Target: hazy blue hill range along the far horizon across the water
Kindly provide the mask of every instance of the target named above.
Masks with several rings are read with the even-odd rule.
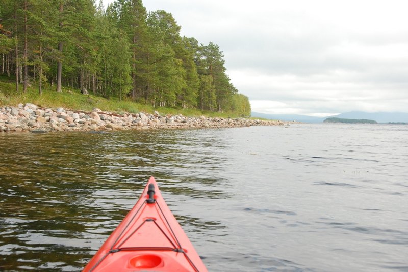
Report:
[[[275,119],[283,121],[297,121],[302,123],[322,123],[326,118],[336,117],[342,119],[368,119],[375,120],[377,123],[408,123],[408,113],[405,112],[363,112],[350,111],[334,116],[314,117],[309,115],[298,114],[266,114],[260,112],[252,112],[252,117],[260,117],[266,119]]]

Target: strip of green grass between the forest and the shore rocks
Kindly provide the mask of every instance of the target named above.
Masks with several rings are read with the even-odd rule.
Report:
[[[234,113],[219,113],[219,112],[202,112],[197,109],[175,109],[175,108],[154,108],[150,105],[135,103],[128,99],[119,100],[116,98],[105,99],[92,94],[83,95],[79,89],[62,88],[62,93],[56,92],[56,87],[45,86],[40,95],[38,85],[28,87],[27,92],[22,92],[22,84],[19,85],[19,92],[16,92],[15,77],[7,77],[0,75],[0,106],[17,106],[22,103],[33,103],[40,107],[47,108],[67,108],[73,110],[92,111],[93,108],[99,108],[103,111],[116,113],[152,113],[158,111],[162,115],[183,114],[184,116],[198,117],[206,115],[210,117],[238,117]]]

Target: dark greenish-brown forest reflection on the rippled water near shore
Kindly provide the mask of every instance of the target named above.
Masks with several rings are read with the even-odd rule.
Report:
[[[1,134],[0,268],[81,269],[150,175],[186,231],[225,228],[193,212],[176,213],[180,205],[195,206],[195,199],[227,197],[216,187],[222,180],[207,173],[218,168],[212,162],[222,162],[212,148],[223,139],[197,133]]]

